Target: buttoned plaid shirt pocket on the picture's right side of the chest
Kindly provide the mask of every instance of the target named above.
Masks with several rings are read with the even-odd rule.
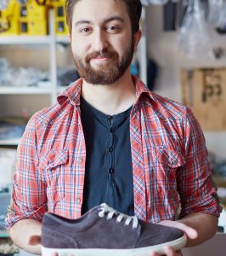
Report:
[[[177,174],[180,167],[184,166],[185,159],[180,148],[158,147],[153,150],[152,178],[157,193],[164,197],[164,200],[178,198]]]

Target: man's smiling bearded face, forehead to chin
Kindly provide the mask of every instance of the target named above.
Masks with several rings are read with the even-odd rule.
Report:
[[[121,0],[81,0],[71,27],[71,50],[80,76],[90,84],[113,84],[127,71],[137,46]]]

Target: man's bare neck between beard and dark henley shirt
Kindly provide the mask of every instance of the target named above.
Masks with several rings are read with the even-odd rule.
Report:
[[[136,101],[136,88],[130,73],[125,73],[115,84],[93,85],[82,83],[82,97],[105,114],[126,111]]]

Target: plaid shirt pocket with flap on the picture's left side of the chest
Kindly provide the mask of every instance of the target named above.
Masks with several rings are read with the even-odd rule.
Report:
[[[65,165],[69,159],[67,150],[51,150],[39,162],[42,177],[47,184],[48,207],[65,197]]]

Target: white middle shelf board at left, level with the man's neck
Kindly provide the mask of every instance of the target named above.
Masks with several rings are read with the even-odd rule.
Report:
[[[7,87],[0,86],[0,95],[52,94],[52,87]]]

